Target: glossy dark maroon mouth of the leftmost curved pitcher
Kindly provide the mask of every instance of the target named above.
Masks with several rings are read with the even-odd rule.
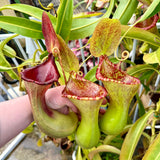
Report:
[[[39,85],[52,84],[57,82],[60,75],[55,64],[53,55],[50,53],[48,59],[31,68],[24,69],[21,72],[21,78],[27,82],[33,82]]]

